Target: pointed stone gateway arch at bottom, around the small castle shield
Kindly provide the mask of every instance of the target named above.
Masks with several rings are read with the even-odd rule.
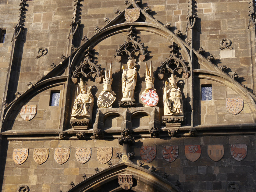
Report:
[[[151,192],[183,192],[180,188],[169,183],[161,176],[152,173],[148,169],[139,167],[132,163],[120,163],[108,169],[94,174],[86,180],[78,183],[67,192],[116,192],[122,191],[118,184],[119,174],[133,175],[132,191],[144,192],[145,189]],[[104,186],[104,188],[102,188]]]

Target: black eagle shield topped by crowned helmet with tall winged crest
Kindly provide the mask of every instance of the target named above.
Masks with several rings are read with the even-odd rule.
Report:
[[[109,72],[106,62],[105,78],[103,79],[104,85],[97,101],[97,105],[99,108],[110,107],[116,100],[116,97],[114,96],[115,93],[114,91],[112,91],[111,88],[112,81],[112,62],[110,63]]]

